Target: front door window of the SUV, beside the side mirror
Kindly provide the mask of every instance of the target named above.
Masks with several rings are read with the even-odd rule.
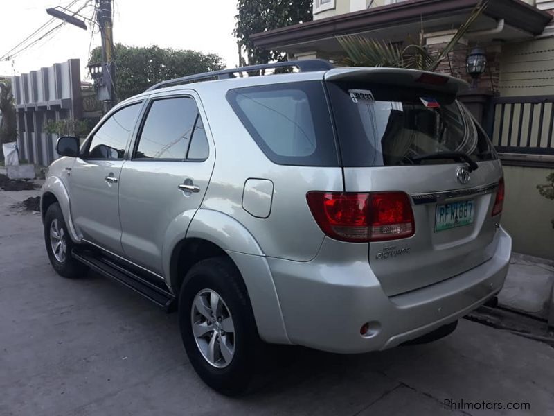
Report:
[[[89,145],[89,159],[123,159],[127,140],[139,117],[141,103],[123,107],[111,114],[96,130]]]

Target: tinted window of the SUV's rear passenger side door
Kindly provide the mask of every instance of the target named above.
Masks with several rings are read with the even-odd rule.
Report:
[[[184,160],[197,114],[193,98],[154,101],[141,132],[136,159]]]

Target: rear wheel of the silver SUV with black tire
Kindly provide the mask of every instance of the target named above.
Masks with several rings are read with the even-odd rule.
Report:
[[[217,303],[220,306],[217,306],[219,311],[215,313],[215,322],[217,315],[222,318],[219,326],[208,320],[213,310],[213,293],[222,301]],[[200,308],[199,304],[202,304]],[[204,314],[200,313],[206,305],[208,308],[203,310]],[[232,327],[228,318],[231,318]],[[204,324],[205,327],[202,327]],[[190,363],[207,385],[228,396],[240,395],[247,390],[262,341],[244,281],[231,259],[205,259],[189,270],[179,296],[179,327]],[[225,332],[225,329],[228,331]],[[233,329],[232,334],[230,329]],[[204,331],[204,336],[197,338]],[[212,354],[210,345],[214,347]],[[233,352],[229,359],[231,349]]]

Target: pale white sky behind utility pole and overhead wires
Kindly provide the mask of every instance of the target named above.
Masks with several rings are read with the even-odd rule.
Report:
[[[51,19],[46,14],[46,8],[67,6],[71,1],[3,1],[0,57]],[[89,6],[80,14],[90,18],[95,1],[88,0],[88,3]],[[77,0],[71,10],[75,11],[85,4],[87,0]],[[114,0],[114,42],[217,53],[226,67],[235,67],[238,64],[237,46],[232,32],[236,14],[235,0]],[[55,19],[41,33],[59,23],[61,21]],[[65,24],[60,30],[15,55],[13,61],[0,60],[0,75],[19,75],[70,58],[79,58],[81,79],[86,79],[89,48],[100,46],[100,34],[92,36],[90,22],[87,26],[87,31],[84,31]]]

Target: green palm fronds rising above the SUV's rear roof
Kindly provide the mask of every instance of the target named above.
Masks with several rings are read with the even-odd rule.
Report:
[[[443,46],[443,49],[434,53],[429,52],[425,46],[423,28],[419,33],[418,42],[412,42],[403,47],[385,40],[368,39],[361,35],[338,36],[337,40],[346,53],[342,63],[349,67],[395,67],[436,71],[440,62],[443,62],[452,52],[487,6],[488,0],[479,2],[452,39]]]

